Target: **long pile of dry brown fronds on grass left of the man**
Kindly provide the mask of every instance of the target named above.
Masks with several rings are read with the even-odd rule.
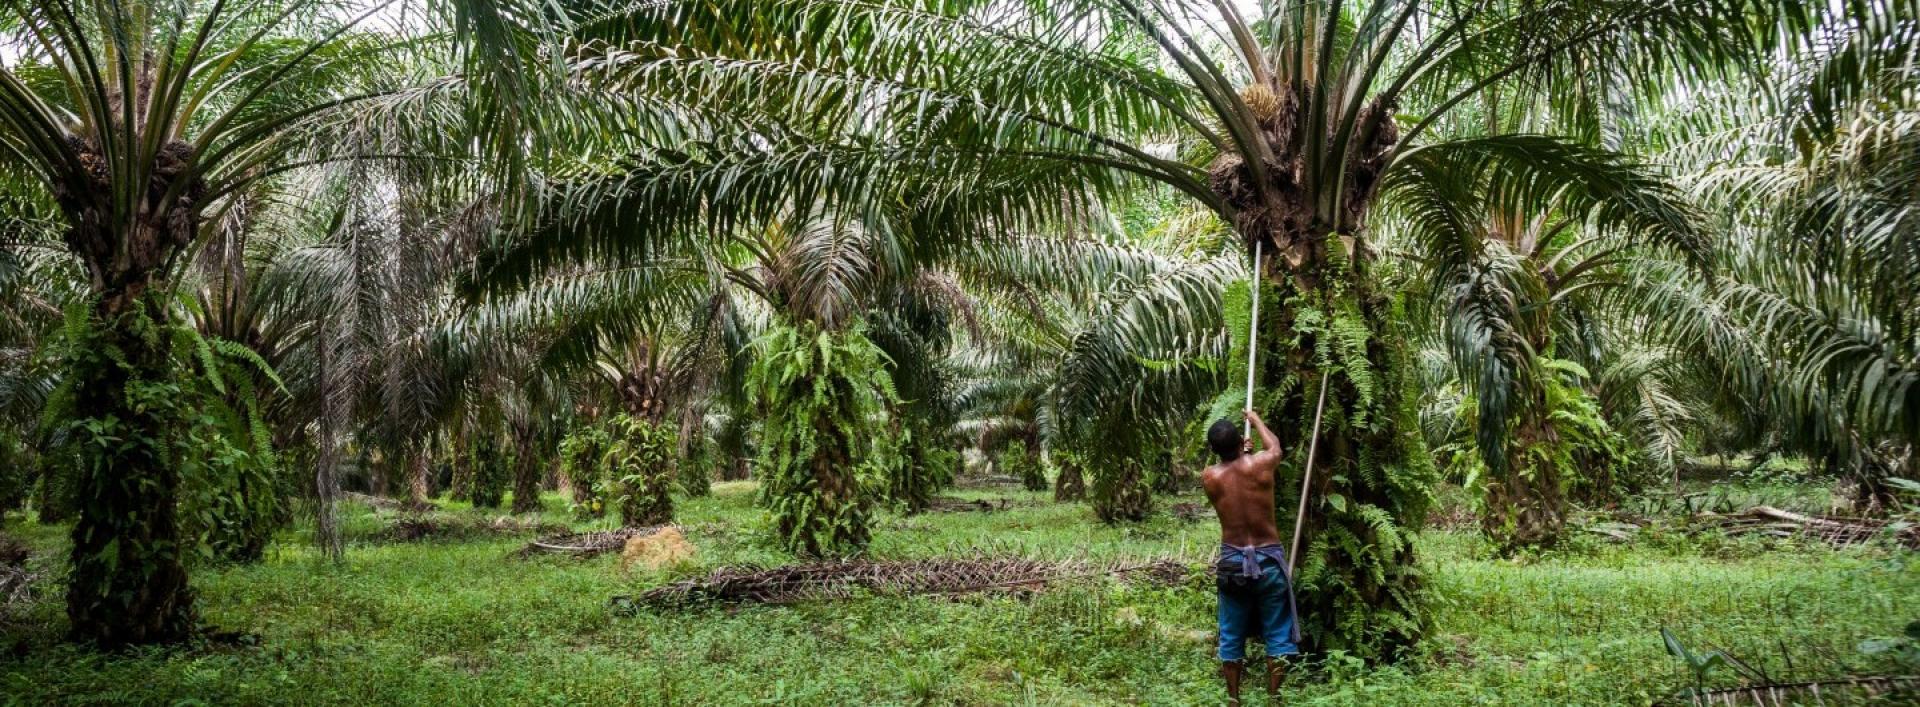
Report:
[[[614,597],[616,609],[684,607],[697,603],[797,603],[847,599],[862,592],[973,594],[1037,592],[1075,578],[1121,576],[1156,584],[1179,584],[1187,567],[1175,559],[1154,561],[1043,561],[1025,557],[933,557],[900,561],[829,561],[776,569],[722,567],[697,580]]]

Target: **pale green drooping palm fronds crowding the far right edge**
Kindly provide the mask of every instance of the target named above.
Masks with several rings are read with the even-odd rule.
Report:
[[[1726,269],[1649,271],[1645,321],[1707,400],[1885,509],[1920,459],[1920,4],[1828,8],[1766,73],[1668,106],[1644,138],[1718,215]]]

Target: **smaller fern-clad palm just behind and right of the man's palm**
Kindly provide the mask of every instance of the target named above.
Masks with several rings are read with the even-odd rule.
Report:
[[[1611,484],[1619,463],[1574,363],[1586,359],[1582,323],[1601,315],[1596,298],[1645,246],[1707,257],[1680,194],[1649,169],[1561,138],[1532,142],[1519,163],[1488,159],[1469,140],[1415,150],[1382,184],[1382,227],[1415,254],[1471,394],[1473,440],[1453,467],[1484,488],[1482,526],[1505,548],[1553,544],[1572,486]]]

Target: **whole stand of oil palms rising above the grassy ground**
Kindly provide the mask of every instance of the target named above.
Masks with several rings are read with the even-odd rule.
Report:
[[[79,640],[296,509],[340,553],[344,486],[751,475],[845,555],[979,448],[1139,521],[1248,378],[1290,478],[1325,398],[1302,615],[1363,657],[1442,478],[1523,549],[1686,450],[1916,465],[1910,0],[12,10],[0,482]]]

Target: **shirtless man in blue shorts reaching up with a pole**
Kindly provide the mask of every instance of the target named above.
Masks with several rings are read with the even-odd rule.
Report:
[[[1229,705],[1240,705],[1250,638],[1267,644],[1267,699],[1273,703],[1281,697],[1281,659],[1300,653],[1286,551],[1273,523],[1273,469],[1281,465],[1281,440],[1254,411],[1244,417],[1260,430],[1260,453],[1240,438],[1238,425],[1223,419],[1206,432],[1219,463],[1200,473],[1206,498],[1219,515],[1213,574],[1219,590],[1219,674],[1227,678]]]

